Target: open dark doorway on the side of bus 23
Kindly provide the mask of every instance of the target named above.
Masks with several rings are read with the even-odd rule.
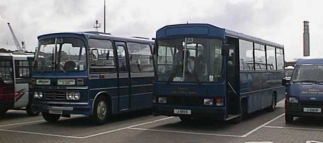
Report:
[[[239,94],[238,94],[238,83],[239,83],[239,73],[238,73],[238,54],[236,45],[238,39],[227,37],[229,42],[229,55],[227,57],[227,111],[229,115],[239,114]]]

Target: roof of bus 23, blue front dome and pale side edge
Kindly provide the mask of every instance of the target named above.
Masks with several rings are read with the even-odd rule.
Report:
[[[244,39],[252,42],[257,42],[261,44],[266,44],[270,46],[275,46],[283,48],[284,45],[274,43],[271,41],[263,40],[253,36],[249,36],[243,33],[235,32],[232,30],[220,28],[213,26],[211,24],[176,24],[176,25],[167,25],[157,30],[156,39],[163,39],[169,37],[180,37],[180,36],[190,36],[190,35],[199,35],[204,37],[218,37],[222,40],[225,39],[225,36],[236,37],[239,39]]]

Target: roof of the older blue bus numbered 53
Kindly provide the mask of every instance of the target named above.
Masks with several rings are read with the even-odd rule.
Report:
[[[88,36],[97,36],[97,37],[106,37],[106,38],[112,38],[116,40],[127,40],[127,41],[137,41],[137,42],[153,42],[153,40],[149,40],[146,38],[141,37],[117,37],[112,36],[110,33],[102,33],[102,32],[96,32],[96,31],[88,31],[88,32],[60,32],[60,33],[49,33],[49,34],[43,34],[38,36],[38,39],[43,38],[50,38],[57,35],[84,35],[86,37]]]

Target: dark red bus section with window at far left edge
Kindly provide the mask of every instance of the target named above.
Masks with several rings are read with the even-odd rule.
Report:
[[[13,60],[10,56],[0,56],[0,103],[5,103],[1,110],[14,108],[14,69]],[[5,108],[5,109],[1,109]]]

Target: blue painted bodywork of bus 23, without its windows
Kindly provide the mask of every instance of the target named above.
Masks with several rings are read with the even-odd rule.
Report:
[[[270,41],[265,41],[252,36],[244,35],[242,33],[226,30],[219,28],[210,24],[178,24],[178,25],[168,25],[160,28],[156,32],[156,40],[178,38],[178,37],[208,37],[217,38],[220,40],[225,40],[226,36],[232,36],[234,38],[249,39],[250,41],[255,41],[258,43],[264,43],[271,46],[276,46],[283,49],[283,45],[276,44]],[[239,63],[239,62],[237,62]],[[226,70],[226,68],[225,68]],[[226,72],[225,72],[226,73]],[[242,100],[247,98],[248,109],[247,112],[251,113],[263,108],[267,108],[272,104],[272,96],[276,93],[277,101],[284,99],[285,97],[285,87],[281,85],[282,79],[284,78],[284,70],[277,71],[239,71],[240,82],[236,85],[239,86],[237,94]],[[225,76],[224,76],[225,77]],[[181,83],[181,82],[170,82],[166,84],[165,82],[154,82],[154,96],[156,97],[169,97],[169,96],[197,96],[197,97],[224,97],[227,102],[227,81],[226,79],[221,83]],[[179,92],[173,92],[172,89],[181,90],[184,88],[189,92],[194,92],[195,94],[187,94],[183,91],[183,94]],[[227,105],[225,105],[227,106]],[[239,105],[237,105],[239,106]],[[166,108],[167,107],[167,108]],[[170,111],[173,109],[193,109],[201,108],[201,106],[170,106],[167,104],[154,104],[153,110],[156,110],[156,114],[164,114],[171,116],[169,113],[164,113],[166,110]],[[202,107],[206,108],[206,107]],[[219,107],[212,107],[212,109],[217,109]],[[163,111],[164,110],[164,111]],[[222,116],[222,120],[228,117],[228,111],[224,108],[225,112]],[[159,113],[158,113],[159,112]]]

